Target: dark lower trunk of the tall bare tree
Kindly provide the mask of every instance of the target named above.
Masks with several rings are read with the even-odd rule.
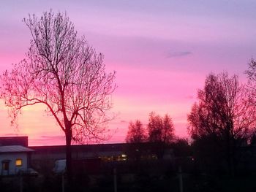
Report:
[[[65,135],[66,135],[67,185],[69,188],[72,185],[72,149],[71,149],[72,132],[71,132],[71,128],[66,129]]]

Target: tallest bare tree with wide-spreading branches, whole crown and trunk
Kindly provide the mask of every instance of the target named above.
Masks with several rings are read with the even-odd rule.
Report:
[[[45,104],[66,137],[70,180],[72,139],[104,139],[115,72],[105,72],[103,55],[78,37],[67,14],[50,11],[23,21],[31,45],[26,59],[1,75],[1,99],[11,107],[12,120],[23,107]]]

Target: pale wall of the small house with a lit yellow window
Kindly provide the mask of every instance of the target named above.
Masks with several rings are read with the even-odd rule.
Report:
[[[22,160],[21,166],[16,166],[16,159]],[[9,173],[2,170],[2,161],[10,160]],[[0,153],[0,175],[17,174],[19,169],[27,169],[28,157],[26,153]]]

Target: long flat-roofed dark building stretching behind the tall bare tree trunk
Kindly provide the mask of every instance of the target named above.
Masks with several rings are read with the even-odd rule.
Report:
[[[95,145],[72,145],[72,158],[93,159],[100,158],[102,161],[127,161],[140,159],[157,159],[159,145],[157,143],[116,143],[116,144],[95,144]],[[34,152],[31,154],[33,161],[56,161],[66,158],[65,145],[53,146],[31,146]],[[172,150],[165,150],[165,153],[173,158]],[[162,154],[166,155],[166,154]]]

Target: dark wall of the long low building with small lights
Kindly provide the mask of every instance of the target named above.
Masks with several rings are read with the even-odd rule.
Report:
[[[41,173],[52,172],[56,161],[66,158],[64,145],[30,148],[34,150],[31,153],[31,167]],[[72,145],[72,160],[77,161],[80,165],[85,164],[87,166],[86,170],[89,167],[89,162],[100,160],[105,169],[112,171],[112,166],[120,166],[127,169],[124,172],[129,172],[129,166],[133,166],[140,160],[141,162],[145,161],[144,164],[149,164],[149,161],[150,164],[160,164],[160,161],[153,162],[158,159],[158,150],[159,146],[155,143]],[[167,149],[162,152],[162,157],[159,160],[165,160],[167,164],[170,164],[173,162],[173,158],[173,150]],[[118,169],[123,169],[120,167]]]

